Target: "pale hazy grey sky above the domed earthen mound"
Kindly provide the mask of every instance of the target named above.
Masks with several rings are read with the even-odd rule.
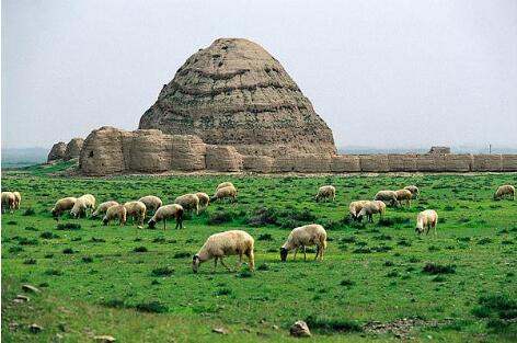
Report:
[[[517,1],[2,1],[3,147],[135,129],[218,37],[275,56],[338,146],[517,146]]]

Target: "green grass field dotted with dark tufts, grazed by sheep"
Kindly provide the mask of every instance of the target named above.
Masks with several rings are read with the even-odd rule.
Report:
[[[266,178],[237,175],[51,176],[31,168],[4,173],[2,191],[20,191],[22,208],[2,215],[2,339],[4,342],[289,342],[306,320],[308,342],[516,342],[517,201],[492,199],[517,174]],[[64,196],[126,202],[147,194],[171,203],[181,194],[214,193],[222,181],[239,188],[237,203],[215,203],[183,230],[138,230],[70,219],[58,230],[49,209]],[[314,202],[333,184],[334,203]],[[416,184],[412,207],[386,220],[357,225],[354,199]],[[420,210],[436,209],[437,237],[417,237]],[[299,225],[328,230],[325,260],[302,254],[279,261],[279,247]],[[209,235],[241,228],[255,238],[255,273],[228,273],[212,263],[193,274],[192,255]],[[237,259],[229,258],[234,265]],[[16,304],[22,284],[38,287]],[[407,319],[405,322],[403,319]],[[372,322],[390,330],[374,330]],[[37,323],[41,333],[27,327]],[[211,332],[225,328],[227,335]]]

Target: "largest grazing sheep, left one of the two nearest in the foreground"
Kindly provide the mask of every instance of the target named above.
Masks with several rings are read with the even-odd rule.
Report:
[[[239,255],[237,268],[242,264],[242,255],[246,255],[250,261],[250,270],[255,267],[255,256],[253,254],[255,241],[250,233],[241,230],[230,230],[210,236],[202,249],[192,258],[192,270],[197,273],[199,265],[208,260],[215,259],[214,272],[217,268],[217,261],[231,272],[225,263],[225,258],[229,255]]]

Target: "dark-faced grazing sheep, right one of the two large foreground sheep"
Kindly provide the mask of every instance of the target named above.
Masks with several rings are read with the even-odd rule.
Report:
[[[295,250],[295,260],[298,252],[298,248],[303,248],[303,260],[307,260],[306,247],[317,245],[314,260],[320,256],[320,261],[323,261],[323,253],[326,249],[326,231],[318,224],[306,225],[299,228],[295,228],[287,238],[284,245],[280,248],[280,260],[286,261],[289,251]]]

